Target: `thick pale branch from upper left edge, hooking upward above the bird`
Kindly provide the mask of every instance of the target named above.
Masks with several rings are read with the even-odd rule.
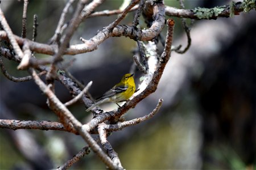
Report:
[[[110,29],[112,29],[112,27],[120,21],[121,18],[119,18],[108,27],[98,32],[97,35],[92,37],[91,39],[84,40],[81,38],[84,42],[83,44],[70,45],[69,48],[65,49],[63,54],[75,55],[85,52],[91,52],[97,49],[97,46],[101,44],[101,42],[106,40],[109,36],[128,36],[131,39],[138,39],[140,41],[148,41],[154,39],[154,37],[159,35],[159,33],[162,31],[162,28],[164,27],[165,15],[163,3],[156,3],[154,4],[154,6],[152,6],[152,8],[154,10],[155,20],[153,21],[150,28],[138,31],[135,30],[133,27],[129,27],[127,25],[117,25],[117,27],[114,27],[113,32],[109,32]],[[129,8],[127,9],[126,13],[128,11]],[[8,38],[5,31],[0,31],[0,37],[2,37],[3,39]],[[57,45],[41,44],[27,39],[22,39],[18,36],[14,37],[19,45],[23,45],[24,41],[27,41],[30,45],[30,50],[36,53],[54,55],[58,50]]]

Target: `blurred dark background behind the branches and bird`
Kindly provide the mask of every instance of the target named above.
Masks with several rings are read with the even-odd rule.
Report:
[[[228,5],[230,1],[184,1],[186,8]],[[32,39],[33,15],[38,15],[38,42],[47,43],[54,34],[66,1],[29,1],[27,38]],[[69,10],[72,17],[75,2]],[[164,1],[179,8],[176,0]],[[122,1],[105,1],[96,11],[113,10]],[[7,22],[15,35],[22,32],[23,1],[2,1]],[[163,107],[155,117],[110,135],[109,142],[126,169],[255,169],[256,164],[256,12],[233,18],[195,21],[191,30],[192,45],[185,54],[172,53],[158,90],[126,113],[126,120],[152,111],[160,97]],[[130,12],[121,24],[131,24]],[[72,38],[90,39],[117,16],[86,19]],[[167,16],[169,18],[169,16]],[[174,18],[174,45],[187,45],[181,20]],[[190,20],[187,20],[190,23]],[[141,28],[146,27],[140,20]],[[166,36],[166,28],[161,33]],[[76,56],[69,71],[87,84],[98,97],[129,73],[133,65],[134,40],[110,37],[98,49]],[[159,43],[159,54],[163,46]],[[38,58],[48,57],[35,54]],[[18,63],[4,58],[7,71],[16,77]],[[135,71],[137,84],[143,74]],[[0,118],[15,120],[58,121],[47,108],[46,97],[33,81],[15,83],[0,74]],[[63,102],[69,92],[56,82],[56,94]],[[104,84],[104,86],[102,86]],[[116,107],[109,104],[106,107]],[[69,107],[81,122],[92,118],[82,103]],[[63,131],[0,129],[0,169],[57,168],[86,144],[74,134]],[[104,169],[91,152],[71,169]]]

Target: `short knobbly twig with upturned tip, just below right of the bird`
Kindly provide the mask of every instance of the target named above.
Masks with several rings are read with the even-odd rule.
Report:
[[[117,131],[117,130],[122,130],[123,128],[125,128],[127,126],[134,126],[143,121],[146,121],[146,120],[152,118],[153,116],[155,116],[155,114],[159,112],[159,109],[161,108],[162,103],[163,103],[163,99],[159,99],[158,104],[156,105],[155,109],[151,113],[147,114],[146,116],[134,118],[133,120],[130,120],[130,121],[120,122],[118,124],[106,125],[105,129],[108,131]]]

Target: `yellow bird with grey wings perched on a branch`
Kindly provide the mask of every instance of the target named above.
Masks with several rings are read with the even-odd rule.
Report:
[[[96,99],[96,103],[86,109],[86,112],[90,111],[97,105],[106,102],[121,102],[128,100],[135,92],[135,83],[133,74],[123,75],[121,82],[115,84],[109,91],[105,92],[101,97]]]

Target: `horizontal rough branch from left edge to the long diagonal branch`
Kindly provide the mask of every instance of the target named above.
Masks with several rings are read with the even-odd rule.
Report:
[[[39,129],[39,130],[68,131],[59,122],[51,122],[51,121],[0,120],[0,128],[13,129],[13,130]]]

